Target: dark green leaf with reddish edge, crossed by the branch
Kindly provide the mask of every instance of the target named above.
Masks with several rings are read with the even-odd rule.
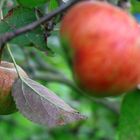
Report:
[[[25,25],[36,21],[35,11],[33,9],[16,7],[9,11],[4,20],[0,22],[0,34],[13,31]],[[18,44],[19,46],[32,46],[42,51],[50,51],[47,47],[44,32],[41,27],[16,37],[11,43]]]

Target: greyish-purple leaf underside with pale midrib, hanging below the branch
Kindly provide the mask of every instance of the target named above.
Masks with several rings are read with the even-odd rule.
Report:
[[[19,79],[12,94],[19,111],[35,123],[53,127],[85,119],[52,91],[29,78]]]

